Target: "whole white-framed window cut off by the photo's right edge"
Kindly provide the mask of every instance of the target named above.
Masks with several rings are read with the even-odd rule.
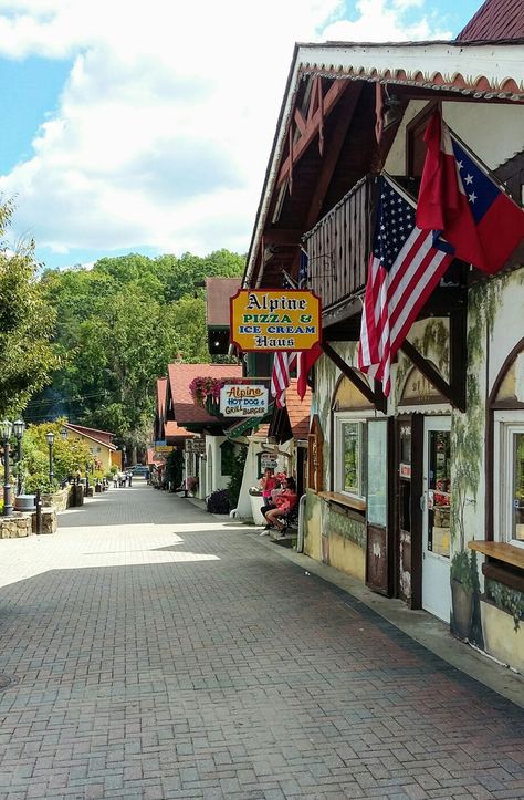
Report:
[[[495,412],[496,539],[524,547],[524,412]]]

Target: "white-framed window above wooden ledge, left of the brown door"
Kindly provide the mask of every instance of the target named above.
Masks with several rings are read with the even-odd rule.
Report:
[[[338,455],[335,459],[335,490],[364,499],[364,422],[347,415],[336,415],[335,425]]]

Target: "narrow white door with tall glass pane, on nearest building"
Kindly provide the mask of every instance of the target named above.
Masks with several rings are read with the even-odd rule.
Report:
[[[426,417],[422,467],[422,609],[449,623],[451,418]]]

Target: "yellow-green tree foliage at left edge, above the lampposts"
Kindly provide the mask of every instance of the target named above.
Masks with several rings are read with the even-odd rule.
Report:
[[[50,344],[55,311],[36,281],[34,245],[12,252],[3,241],[13,208],[0,206],[0,416],[20,415],[60,364]]]

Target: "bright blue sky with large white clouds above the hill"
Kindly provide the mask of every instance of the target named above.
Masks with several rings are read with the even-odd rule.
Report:
[[[13,242],[48,267],[247,251],[294,43],[454,38],[480,4],[0,0]]]

